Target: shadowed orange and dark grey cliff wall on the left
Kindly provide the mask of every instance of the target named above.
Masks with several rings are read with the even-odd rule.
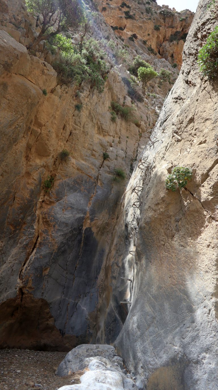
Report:
[[[171,85],[154,80],[134,101],[137,126],[113,123],[111,101],[133,103],[127,66],[113,65],[102,94],[89,83],[60,85],[45,44],[34,55],[25,47],[40,31],[40,16],[28,15],[22,1],[1,2],[0,12],[1,346],[68,350],[95,342],[103,329],[104,306],[97,305],[122,195]],[[100,13],[90,34],[119,43]],[[176,78],[169,62],[143,48],[128,48],[130,63],[139,52]],[[65,162],[63,149],[70,152]],[[114,168],[126,173],[122,183],[113,181]],[[48,176],[54,185],[46,192]],[[113,328],[113,340],[126,318],[119,304],[115,310],[119,326],[108,323],[107,331]]]

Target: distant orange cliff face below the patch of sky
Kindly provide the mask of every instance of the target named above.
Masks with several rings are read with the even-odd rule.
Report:
[[[96,4],[108,25],[126,44],[133,47],[136,45],[138,50],[152,53],[157,58],[165,58],[170,64],[176,63],[180,69],[184,42],[194,18],[193,12],[176,12],[168,6],[162,8],[153,1],[144,0],[130,0],[127,3],[98,0]],[[136,34],[136,37],[130,41],[132,34]]]

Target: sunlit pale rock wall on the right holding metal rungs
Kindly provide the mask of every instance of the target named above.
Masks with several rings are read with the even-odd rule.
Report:
[[[217,20],[217,9],[212,13],[207,4],[199,2],[180,75],[155,127],[155,147],[143,152],[148,166],[142,171],[139,162],[129,181],[102,298],[98,337],[110,342],[121,322],[118,302],[130,298],[129,282],[121,291],[120,277],[133,280],[115,345],[138,387],[149,390],[214,389],[218,383],[218,84],[202,78],[197,65]],[[193,178],[173,193],[164,181],[176,165],[192,168]],[[142,186],[139,197],[132,192],[136,185]],[[135,201],[141,211],[132,207]]]

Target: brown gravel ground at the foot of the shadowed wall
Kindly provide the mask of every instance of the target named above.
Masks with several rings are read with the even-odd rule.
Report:
[[[0,350],[0,390],[57,390],[80,383],[83,372],[65,377],[55,374],[66,352]]]

